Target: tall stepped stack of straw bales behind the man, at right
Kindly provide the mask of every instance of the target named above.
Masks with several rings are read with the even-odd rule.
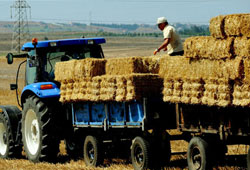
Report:
[[[209,106],[250,106],[250,14],[210,20],[211,36],[190,37],[184,56],[164,57],[163,100]]]

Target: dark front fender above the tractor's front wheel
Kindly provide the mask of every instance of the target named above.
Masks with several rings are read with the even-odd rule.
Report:
[[[17,106],[0,106],[0,111],[5,115],[10,122],[10,129],[12,131],[13,141],[16,141],[16,137],[19,133],[19,122],[22,118],[22,111]]]

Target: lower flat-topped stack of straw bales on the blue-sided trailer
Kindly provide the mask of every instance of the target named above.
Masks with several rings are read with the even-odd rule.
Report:
[[[60,101],[131,101],[159,95],[159,58],[84,59],[56,64]],[[65,70],[67,69],[67,70]]]

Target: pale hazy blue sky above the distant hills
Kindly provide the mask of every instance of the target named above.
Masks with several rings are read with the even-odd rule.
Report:
[[[210,18],[250,13],[250,0],[26,0],[28,20],[51,23],[155,24],[165,16],[169,23],[209,24]],[[14,21],[15,0],[0,0],[0,21]]]

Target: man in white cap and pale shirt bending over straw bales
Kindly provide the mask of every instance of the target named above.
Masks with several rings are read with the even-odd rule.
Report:
[[[157,25],[158,28],[163,32],[164,42],[154,51],[154,55],[156,55],[162,49],[167,51],[167,54],[170,56],[183,55],[183,45],[175,28],[168,24],[168,21],[165,17],[158,18]]]

